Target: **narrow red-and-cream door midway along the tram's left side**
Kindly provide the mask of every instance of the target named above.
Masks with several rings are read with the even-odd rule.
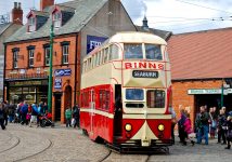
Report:
[[[95,109],[95,96],[94,90],[90,91],[90,133],[93,134],[93,124],[94,124],[94,109]]]

